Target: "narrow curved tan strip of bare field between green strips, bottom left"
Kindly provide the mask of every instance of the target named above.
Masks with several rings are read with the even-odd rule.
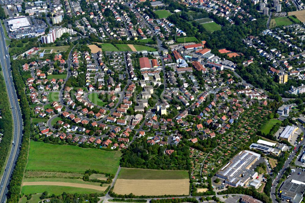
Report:
[[[96,185],[87,185],[87,184],[80,184],[80,183],[63,183],[63,182],[50,182],[50,181],[37,181],[37,182],[23,182],[22,186],[26,185],[55,185],[55,186],[68,186],[68,187],[81,187],[81,188],[88,188],[92,190],[99,190],[105,191],[107,187],[101,187]]]

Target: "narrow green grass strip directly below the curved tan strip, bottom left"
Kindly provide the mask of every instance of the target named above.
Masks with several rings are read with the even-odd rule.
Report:
[[[48,194],[63,194],[63,192],[74,194],[84,194],[84,193],[101,193],[101,191],[80,188],[80,187],[66,187],[66,186],[55,186],[55,185],[26,185],[22,186],[21,194],[35,194],[35,193],[43,193],[44,191],[48,191]]]

